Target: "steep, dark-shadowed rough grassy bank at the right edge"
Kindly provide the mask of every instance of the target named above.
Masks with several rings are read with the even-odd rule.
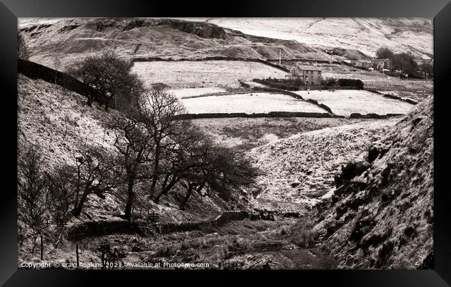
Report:
[[[320,212],[315,228],[342,268],[433,268],[433,105],[429,97],[396,123],[372,166]]]

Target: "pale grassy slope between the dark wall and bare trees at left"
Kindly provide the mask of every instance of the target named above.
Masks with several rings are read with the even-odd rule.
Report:
[[[46,166],[71,162],[83,143],[114,152],[114,139],[101,123],[108,114],[99,105],[88,107],[84,96],[44,80],[19,74],[17,81],[19,144],[40,146]]]

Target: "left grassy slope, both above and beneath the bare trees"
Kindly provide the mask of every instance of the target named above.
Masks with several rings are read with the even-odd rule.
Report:
[[[96,103],[93,107],[86,105],[86,98],[69,92],[60,86],[43,80],[32,80],[18,75],[18,153],[29,144],[35,144],[42,150],[47,171],[62,164],[74,164],[78,148],[83,143],[100,146],[110,153],[117,153],[114,148],[114,133],[103,127],[103,121],[115,111],[106,113]],[[146,189],[137,186],[138,197],[146,195]],[[85,210],[79,218],[72,218],[71,223],[84,220],[118,219],[124,212],[121,189],[107,194],[105,199],[89,195]],[[176,191],[173,195],[162,198],[161,205],[148,200],[137,200],[136,216],[146,214],[147,210],[160,212],[163,221],[189,220],[216,216],[224,209],[239,209],[241,203],[224,202],[215,195],[212,197],[193,194],[187,202],[187,211],[178,210],[178,198],[185,195]],[[144,204],[145,203],[145,204]],[[238,205],[238,206],[237,206]]]

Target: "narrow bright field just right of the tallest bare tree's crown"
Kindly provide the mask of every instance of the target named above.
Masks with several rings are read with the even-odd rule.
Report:
[[[244,112],[325,112],[316,105],[292,96],[269,93],[205,96],[181,100],[189,114]]]

